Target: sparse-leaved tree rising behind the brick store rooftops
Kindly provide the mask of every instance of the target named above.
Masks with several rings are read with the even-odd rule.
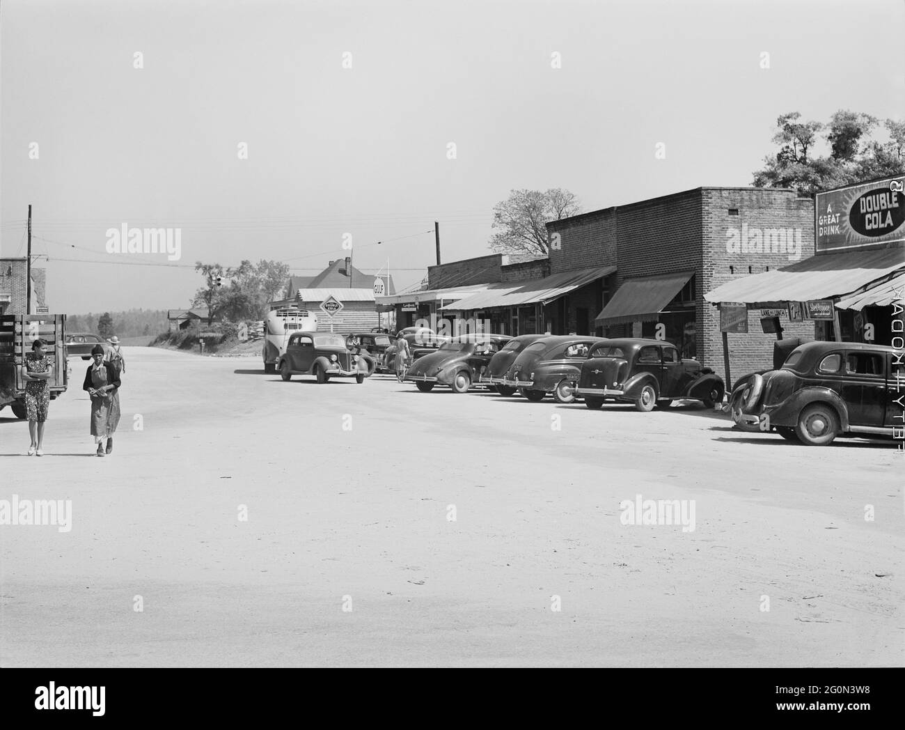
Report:
[[[549,235],[546,224],[581,212],[578,200],[568,190],[510,190],[510,197],[493,207],[497,231],[490,241],[491,251],[547,255]]]

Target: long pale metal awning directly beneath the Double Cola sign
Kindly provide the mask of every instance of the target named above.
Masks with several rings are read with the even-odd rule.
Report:
[[[762,303],[834,299],[900,269],[905,270],[905,249],[902,248],[822,254],[782,269],[724,283],[704,294],[704,299],[715,304],[743,302],[749,308]]]

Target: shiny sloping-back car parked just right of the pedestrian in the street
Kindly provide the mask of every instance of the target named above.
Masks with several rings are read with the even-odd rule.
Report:
[[[491,357],[512,338],[504,334],[463,334],[444,342],[440,349],[425,355],[405,373],[405,380],[426,393],[435,385],[448,385],[453,393],[464,393],[472,384],[490,386],[483,379]]]

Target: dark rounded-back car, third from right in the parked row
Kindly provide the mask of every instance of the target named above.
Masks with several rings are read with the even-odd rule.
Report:
[[[513,360],[502,385],[519,388],[529,400],[542,400],[552,392],[557,403],[573,403],[581,363],[600,337],[556,335],[541,337]]]

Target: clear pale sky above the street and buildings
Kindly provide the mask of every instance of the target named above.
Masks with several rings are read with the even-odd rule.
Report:
[[[903,28],[900,0],[5,0],[0,256],[31,204],[51,312],[184,308],[196,261],[317,274],[347,234],[412,287],[435,220],[444,263],[485,255],[511,189],[748,186],[782,113],[905,118]],[[179,258],[110,253],[124,225]]]

